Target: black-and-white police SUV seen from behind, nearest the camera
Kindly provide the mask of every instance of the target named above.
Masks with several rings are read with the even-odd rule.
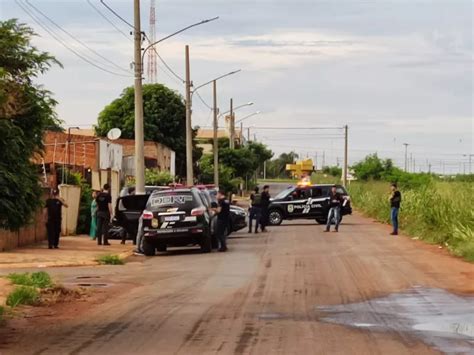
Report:
[[[168,246],[199,245],[202,252],[210,252],[210,215],[199,190],[153,192],[143,211],[143,238],[147,256],[166,251]]]

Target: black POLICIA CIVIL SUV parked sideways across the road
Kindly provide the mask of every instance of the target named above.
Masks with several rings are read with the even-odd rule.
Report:
[[[314,219],[320,224],[327,222],[329,193],[334,185],[290,186],[271,199],[268,207],[270,225],[280,225],[283,220]],[[335,185],[336,191],[347,197],[341,208],[342,216],[352,213],[349,194],[342,185]]]

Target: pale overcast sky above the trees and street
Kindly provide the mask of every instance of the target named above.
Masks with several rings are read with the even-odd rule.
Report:
[[[64,48],[24,10],[26,0],[0,0],[2,19],[19,18],[40,35],[34,40],[64,65],[41,78],[59,101],[58,114],[68,125],[94,124],[101,109],[126,86],[133,60],[131,37],[110,25],[87,0],[29,0],[47,16],[104,58],[82,47],[38,13],[55,36],[101,71]],[[130,28],[90,0],[124,33]],[[132,0],[106,1],[133,21]],[[427,160],[438,171],[468,169],[473,153],[473,3],[470,0],[156,0],[157,37],[199,20],[218,21],[163,42],[158,51],[184,76],[184,46],[190,45],[195,86],[242,69],[218,84],[219,106],[237,111],[251,134],[279,154],[295,150],[318,155],[321,164],[342,161],[340,130],[286,131],[259,127],[340,127],[349,125],[350,162],[378,152],[403,165],[409,143],[416,170]],[[142,28],[149,32],[149,1],[142,1]],[[127,39],[128,37],[128,39]],[[113,62],[114,64],[110,63]],[[184,94],[184,87],[161,63],[158,81]],[[211,104],[211,87],[201,95]],[[211,123],[210,110],[195,97],[193,125]],[[84,126],[85,127],[85,126]]]

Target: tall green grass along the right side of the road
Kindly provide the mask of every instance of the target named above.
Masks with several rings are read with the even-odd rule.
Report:
[[[389,184],[354,182],[354,206],[382,222],[390,221]],[[474,261],[474,186],[463,182],[432,182],[402,189],[400,227],[406,233],[447,246],[455,255]]]

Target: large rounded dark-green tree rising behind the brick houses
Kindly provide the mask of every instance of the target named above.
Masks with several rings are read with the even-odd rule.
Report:
[[[161,84],[143,86],[143,118],[145,140],[162,143],[176,152],[176,171],[186,174],[186,109],[183,98]],[[99,114],[96,133],[106,136],[112,128],[120,128],[122,137],[135,138],[135,90],[126,88]],[[197,133],[194,130],[193,134]],[[193,158],[197,161],[202,152],[193,139]]]

